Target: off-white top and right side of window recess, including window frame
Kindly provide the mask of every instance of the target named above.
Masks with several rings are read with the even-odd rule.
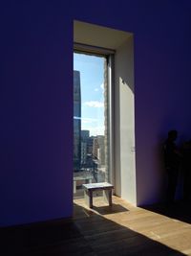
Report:
[[[109,182],[115,195],[137,205],[134,35],[74,20],[74,51],[107,59]]]

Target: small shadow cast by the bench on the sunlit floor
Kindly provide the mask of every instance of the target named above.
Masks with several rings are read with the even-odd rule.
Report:
[[[95,210],[98,214],[108,215],[114,213],[122,213],[129,211],[128,209],[122,207],[120,204],[113,203],[112,206],[93,206],[93,210]]]

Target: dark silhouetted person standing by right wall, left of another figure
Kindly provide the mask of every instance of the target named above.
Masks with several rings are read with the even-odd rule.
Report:
[[[167,203],[172,203],[174,201],[178,182],[180,153],[175,144],[177,137],[177,130],[169,130],[168,138],[163,145],[164,164],[168,175]]]

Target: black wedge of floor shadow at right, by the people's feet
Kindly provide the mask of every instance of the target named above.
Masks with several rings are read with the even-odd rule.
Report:
[[[141,208],[159,213],[178,221],[191,223],[191,201],[176,201],[172,204],[158,203],[141,206]]]

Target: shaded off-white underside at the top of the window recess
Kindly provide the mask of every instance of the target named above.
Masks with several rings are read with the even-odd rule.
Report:
[[[75,43],[117,50],[132,35],[132,33],[74,20]]]

